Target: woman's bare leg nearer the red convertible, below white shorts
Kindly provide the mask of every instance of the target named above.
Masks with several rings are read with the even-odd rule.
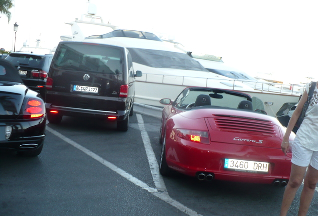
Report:
[[[307,167],[297,166],[291,164],[290,179],[286,186],[284,197],[282,199],[280,216],[286,216],[289,207],[296,195],[298,188],[300,187]]]

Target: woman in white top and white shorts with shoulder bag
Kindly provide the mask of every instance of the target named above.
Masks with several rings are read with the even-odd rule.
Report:
[[[281,143],[281,150],[285,155],[290,147],[289,136],[307,101],[309,88],[312,83],[313,82],[306,84],[306,90],[289,120],[286,133]],[[291,172],[282,199],[280,216],[287,215],[303,178],[304,184],[300,197],[298,216],[306,215],[318,182],[318,88],[317,86],[313,87],[315,87],[315,89],[308,109],[292,144]],[[306,176],[304,177],[305,173]]]

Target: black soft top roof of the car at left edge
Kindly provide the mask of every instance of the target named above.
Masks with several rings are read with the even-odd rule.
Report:
[[[17,69],[11,63],[3,59],[0,59],[0,81],[23,82]]]

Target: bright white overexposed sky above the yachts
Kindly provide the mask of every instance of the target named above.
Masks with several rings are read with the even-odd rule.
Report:
[[[284,83],[318,75],[316,0],[90,0],[103,21],[122,29],[174,38],[188,50],[221,56],[252,76]],[[27,41],[53,48],[87,12],[88,0],[14,0],[11,21],[0,18],[0,47],[16,50]],[[103,34],[90,29],[87,36]]]

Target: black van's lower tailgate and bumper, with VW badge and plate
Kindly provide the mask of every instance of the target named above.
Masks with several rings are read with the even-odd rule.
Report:
[[[46,101],[55,106],[81,109],[118,110],[122,75],[106,75],[86,71],[55,70],[51,94]],[[85,80],[86,79],[86,80]],[[124,107],[122,107],[124,109]]]

